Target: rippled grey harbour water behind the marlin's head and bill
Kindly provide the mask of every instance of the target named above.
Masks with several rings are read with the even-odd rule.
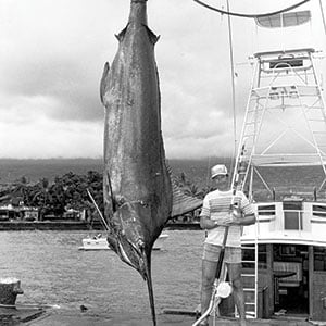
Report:
[[[164,249],[152,253],[156,313],[193,310],[199,303],[201,230],[167,230]],[[0,233],[0,277],[21,279],[16,304],[58,304],[108,318],[148,315],[146,283],[112,251],[80,251],[85,231]]]

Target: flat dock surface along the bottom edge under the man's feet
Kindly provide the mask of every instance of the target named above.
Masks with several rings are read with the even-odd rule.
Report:
[[[191,326],[196,322],[195,315],[179,313],[158,314],[158,325],[162,326]],[[16,326],[152,326],[150,315],[106,315],[100,316],[88,312],[74,310],[45,310],[45,309],[5,309],[0,308],[0,325]],[[213,317],[210,326],[214,325]],[[216,317],[218,326],[238,326],[239,321],[231,317]],[[279,316],[272,319],[247,319],[247,326],[326,326],[326,322],[306,321],[304,317]]]

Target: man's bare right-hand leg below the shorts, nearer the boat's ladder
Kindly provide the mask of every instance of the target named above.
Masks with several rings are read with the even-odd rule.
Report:
[[[227,271],[233,284],[233,296],[240,315],[240,325],[246,325],[244,296],[241,283],[241,263],[228,263]]]

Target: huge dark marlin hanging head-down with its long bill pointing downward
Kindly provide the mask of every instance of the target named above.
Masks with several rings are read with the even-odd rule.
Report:
[[[147,281],[155,325],[151,250],[171,216],[172,186],[161,134],[159,37],[147,25],[147,0],[131,0],[128,24],[116,37],[117,53],[101,80],[108,242]]]

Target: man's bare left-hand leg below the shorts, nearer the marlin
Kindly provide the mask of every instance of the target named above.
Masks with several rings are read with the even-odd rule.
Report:
[[[201,280],[201,313],[203,314],[212,298],[212,290],[215,280],[217,262],[202,260],[202,280]]]

